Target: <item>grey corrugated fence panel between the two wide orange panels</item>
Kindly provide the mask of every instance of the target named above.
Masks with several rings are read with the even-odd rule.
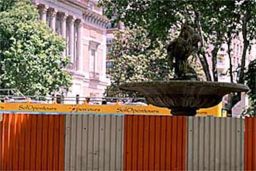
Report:
[[[66,170],[122,170],[123,116],[67,115]]]

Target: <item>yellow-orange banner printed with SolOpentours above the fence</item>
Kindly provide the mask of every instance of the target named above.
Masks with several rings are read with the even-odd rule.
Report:
[[[48,114],[147,114],[170,115],[168,108],[156,106],[129,106],[129,105],[63,105],[63,104],[38,104],[38,103],[0,103],[0,112],[15,113],[48,113]],[[221,103],[207,109],[198,109],[197,116],[221,116]]]

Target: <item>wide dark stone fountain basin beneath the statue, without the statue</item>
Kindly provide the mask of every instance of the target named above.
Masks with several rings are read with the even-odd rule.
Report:
[[[122,83],[119,89],[139,92],[149,104],[169,108],[173,115],[194,116],[197,109],[218,105],[224,95],[247,92],[249,87],[228,82],[173,80]]]

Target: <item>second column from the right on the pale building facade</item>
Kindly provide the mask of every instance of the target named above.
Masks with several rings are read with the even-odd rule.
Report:
[[[75,18],[69,17],[69,56],[70,56],[70,69],[74,68],[74,22]]]

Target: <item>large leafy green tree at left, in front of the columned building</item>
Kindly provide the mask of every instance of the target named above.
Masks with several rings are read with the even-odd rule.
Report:
[[[69,89],[64,40],[44,22],[29,0],[0,0],[0,87],[27,95]]]

